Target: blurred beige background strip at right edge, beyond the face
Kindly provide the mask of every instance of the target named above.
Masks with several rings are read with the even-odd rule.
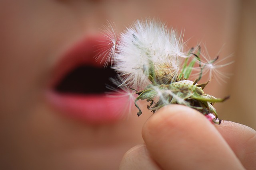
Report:
[[[221,106],[222,119],[248,125],[255,130],[256,122],[256,4],[241,0],[238,8],[238,30],[234,51],[234,75],[226,89],[231,98]]]

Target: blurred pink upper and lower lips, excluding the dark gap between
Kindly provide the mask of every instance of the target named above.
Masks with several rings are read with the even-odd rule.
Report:
[[[79,65],[102,67],[94,58],[97,45],[102,38],[87,37],[76,43],[56,64],[46,97],[58,112],[89,123],[117,121],[123,115],[122,109],[127,102],[124,98],[109,98],[104,94],[61,94],[53,90],[54,85],[67,72]]]

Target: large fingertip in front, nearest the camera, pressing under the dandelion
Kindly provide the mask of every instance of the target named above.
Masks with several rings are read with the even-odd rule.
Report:
[[[186,106],[160,109],[146,121],[142,137],[164,170],[244,169],[214,125]]]

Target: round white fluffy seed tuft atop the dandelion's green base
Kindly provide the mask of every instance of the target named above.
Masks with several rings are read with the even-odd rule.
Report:
[[[180,59],[188,57],[183,37],[160,21],[137,20],[120,34],[118,41],[115,41],[114,29],[107,31],[113,47],[106,61],[112,61],[123,84],[136,90],[151,83],[150,69],[154,69],[156,75],[173,74],[180,69]]]

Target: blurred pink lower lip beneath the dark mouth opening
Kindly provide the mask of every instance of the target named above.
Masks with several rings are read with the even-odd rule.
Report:
[[[47,98],[61,113],[89,123],[106,123],[122,118],[127,100],[123,97],[110,98],[104,94],[74,95],[48,91]]]

